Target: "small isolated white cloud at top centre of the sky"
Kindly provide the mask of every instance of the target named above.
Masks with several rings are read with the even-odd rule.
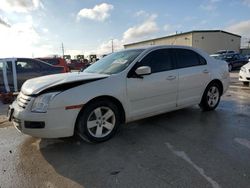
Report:
[[[110,16],[110,11],[114,8],[113,5],[102,3],[100,5],[96,5],[92,9],[84,8],[79,11],[77,15],[77,19],[87,18],[90,20],[96,21],[104,21]]]

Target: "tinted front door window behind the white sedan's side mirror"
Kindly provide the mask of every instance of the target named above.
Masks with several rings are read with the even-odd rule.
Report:
[[[152,73],[174,69],[171,50],[160,49],[150,52],[140,63],[140,66],[151,67]]]

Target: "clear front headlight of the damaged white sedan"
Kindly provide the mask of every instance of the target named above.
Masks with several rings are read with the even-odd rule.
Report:
[[[38,96],[32,104],[31,111],[36,113],[46,113],[50,101],[58,94],[59,92],[45,93]]]

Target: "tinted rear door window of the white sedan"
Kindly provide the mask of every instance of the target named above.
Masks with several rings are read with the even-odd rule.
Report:
[[[178,68],[206,65],[206,60],[192,50],[176,49]]]

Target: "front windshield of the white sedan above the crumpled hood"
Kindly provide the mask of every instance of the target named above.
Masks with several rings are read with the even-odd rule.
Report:
[[[86,73],[116,74],[126,69],[144,50],[126,50],[110,54],[87,69]]]

